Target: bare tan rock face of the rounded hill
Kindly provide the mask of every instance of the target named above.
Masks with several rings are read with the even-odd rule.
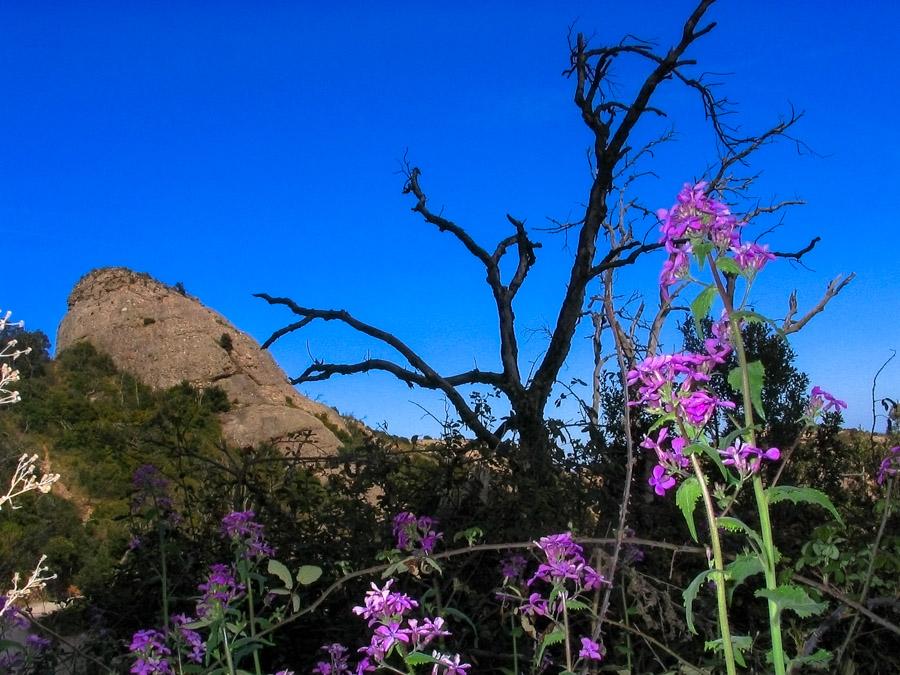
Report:
[[[335,410],[297,393],[253,338],[147,274],[108,267],[82,277],[69,295],[57,350],[81,340],[150,387],[187,380],[224,389],[231,410],[222,413],[222,430],[232,445],[276,441],[303,456],[324,456],[347,432]]]

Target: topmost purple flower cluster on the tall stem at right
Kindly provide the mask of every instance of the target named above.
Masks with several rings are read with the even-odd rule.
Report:
[[[705,182],[685,183],[675,205],[656,212],[662,232],[660,242],[669,254],[659,276],[666,299],[669,288],[688,276],[694,247],[701,242],[709,242],[719,252],[732,253],[738,268],[748,276],[755,275],[775,259],[768,246],[741,243],[740,229],[744,223],[738,222],[725,204],[706,194],[706,188]]]

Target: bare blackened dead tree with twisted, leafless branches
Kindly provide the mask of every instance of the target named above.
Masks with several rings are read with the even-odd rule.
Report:
[[[553,443],[545,423],[545,408],[550,399],[560,369],[569,355],[572,340],[579,322],[585,316],[585,300],[588,287],[604,273],[635,263],[645,254],[660,248],[660,244],[636,238],[630,227],[621,224],[610,226],[610,210],[616,208],[617,181],[632,158],[641,156],[647,149],[633,150],[629,138],[639,123],[648,116],[666,117],[667,113],[654,105],[657,90],[664,83],[685,86],[700,98],[706,118],[720,149],[718,169],[711,171],[710,179],[722,189],[729,172],[746,164],[756,149],[785,132],[797,121],[791,115],[763,134],[740,137],[724,121],[728,112],[727,101],[718,98],[703,76],[689,74],[695,61],[686,54],[695,42],[712,31],[714,22],[704,23],[703,18],[713,0],[702,0],[685,21],[680,36],[667,51],[643,40],[627,37],[612,46],[592,48],[582,34],[570,39],[570,66],[565,71],[574,82],[574,103],[583,123],[593,134],[589,155],[593,181],[586,198],[583,217],[564,227],[569,236],[577,235],[572,267],[569,272],[565,295],[559,305],[555,325],[543,357],[530,377],[523,377],[519,364],[519,345],[513,302],[525,282],[529,270],[536,261],[535,242],[523,222],[507,216],[512,232],[490,250],[477,243],[463,226],[445,218],[428,207],[428,198],[422,188],[421,171],[406,166],[406,182],[403,192],[409,194],[417,212],[427,223],[441,232],[453,236],[484,266],[486,282],[494,303],[500,330],[500,363],[496,370],[474,369],[452,375],[442,374],[427,363],[410,346],[397,336],[365,323],[344,310],[303,307],[285,297],[272,297],[265,293],[258,297],[270,304],[284,305],[299,318],[295,323],[276,331],[265,342],[268,347],[282,336],[303,328],[317,319],[339,321],[360,333],[393,348],[405,362],[369,358],[353,364],[315,362],[298,377],[294,384],[326,380],[333,375],[365,373],[373,370],[391,373],[410,387],[423,387],[440,391],[454,406],[460,419],[471,429],[475,437],[488,448],[507,448],[517,463],[532,471],[540,472],[552,465]],[[619,100],[609,86],[612,66],[622,58],[638,59],[646,65],[646,75],[633,96]],[[516,257],[515,271],[504,279],[500,263],[504,256]],[[489,428],[479,418],[478,411],[465,399],[462,387],[487,386],[502,392],[509,401],[510,415],[494,428]],[[540,473],[538,475],[541,475]],[[546,474],[545,474],[546,475]]]

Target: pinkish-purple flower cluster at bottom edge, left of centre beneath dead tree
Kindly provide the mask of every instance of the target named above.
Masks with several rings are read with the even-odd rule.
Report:
[[[433,640],[450,635],[441,617],[421,621],[407,617],[419,603],[405,593],[392,591],[393,582],[389,579],[383,588],[373,583],[366,593],[364,605],[353,608],[354,614],[366,619],[369,627],[375,629],[369,645],[359,650],[363,657],[356,667],[358,675],[376,670],[377,664],[383,662],[395,647],[421,651]],[[449,659],[445,665],[448,673],[464,673],[470,667],[460,664],[458,656],[455,661]]]

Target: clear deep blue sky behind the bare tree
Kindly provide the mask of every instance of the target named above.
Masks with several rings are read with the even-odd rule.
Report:
[[[408,149],[431,205],[485,246],[504,214],[577,216],[588,182],[586,130],[571,103],[566,31],[597,43],[626,33],[671,44],[690,2],[48,2],[0,7],[0,232],[10,250],[0,306],[53,336],[72,285],[124,265],[181,281],[262,339],[290,320],[251,293],[346,308],[391,330],[439,369],[495,367],[496,318],[483,271],[424,224],[400,194]],[[773,248],[823,242],[809,269],[779,263],[762,309],[797,288],[818,300],[838,273],[859,278],[797,336],[799,364],[871,423],[871,377],[900,348],[896,193],[900,58],[895,3],[723,2],[693,52],[762,129],[805,110],[789,145],[759,155],[757,196],[802,197]],[[617,75],[623,91],[635,70]],[[641,186],[668,206],[713,159],[696,101],[671,85],[679,134]],[[654,235],[655,236],[655,235]],[[524,351],[556,315],[570,251],[550,234],[520,294]],[[651,290],[660,260],[622,278]],[[586,330],[564,377],[587,377]],[[336,326],[311,327],[275,355],[291,374],[309,354],[382,350]],[[879,395],[900,397],[900,357]],[[439,398],[389,376],[305,388],[370,424],[427,432],[416,401]]]

